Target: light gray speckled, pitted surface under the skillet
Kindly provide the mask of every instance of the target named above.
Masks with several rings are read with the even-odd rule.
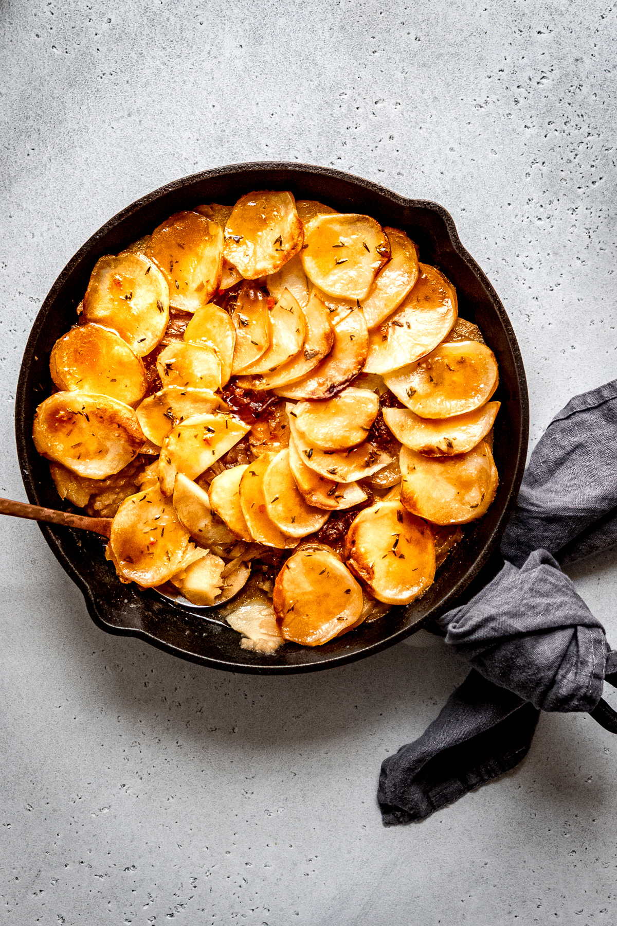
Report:
[[[0,19],[1,494],[24,497],[14,391],[57,273],[118,209],[220,164],[333,165],[446,206],[519,338],[532,442],[615,376],[610,6],[4,0]],[[617,741],[593,720],[543,717],[512,775],[384,830],[381,759],[463,679],[441,644],[295,678],[195,668],[99,632],[38,529],[0,528],[7,923],[617,920]],[[615,564],[573,572],[613,632]]]

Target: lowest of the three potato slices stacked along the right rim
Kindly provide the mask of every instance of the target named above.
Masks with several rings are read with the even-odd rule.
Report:
[[[401,448],[401,502],[435,524],[466,524],[486,514],[499,484],[493,455],[482,441],[457,457],[423,457]]]

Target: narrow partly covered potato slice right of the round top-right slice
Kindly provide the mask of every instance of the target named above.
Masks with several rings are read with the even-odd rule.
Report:
[[[399,229],[385,228],[392,257],[379,270],[369,294],[362,303],[362,310],[369,332],[401,305],[418,279],[420,269],[413,241]]]

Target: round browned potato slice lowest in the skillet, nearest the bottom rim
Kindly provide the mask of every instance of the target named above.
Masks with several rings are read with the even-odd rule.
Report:
[[[304,547],[277,576],[272,600],[286,640],[319,646],[358,623],[362,588],[334,553]]]

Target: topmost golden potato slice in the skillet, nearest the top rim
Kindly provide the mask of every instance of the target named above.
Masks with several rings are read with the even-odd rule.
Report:
[[[304,231],[290,193],[241,196],[225,227],[225,257],[246,280],[276,273],[302,247]]]

